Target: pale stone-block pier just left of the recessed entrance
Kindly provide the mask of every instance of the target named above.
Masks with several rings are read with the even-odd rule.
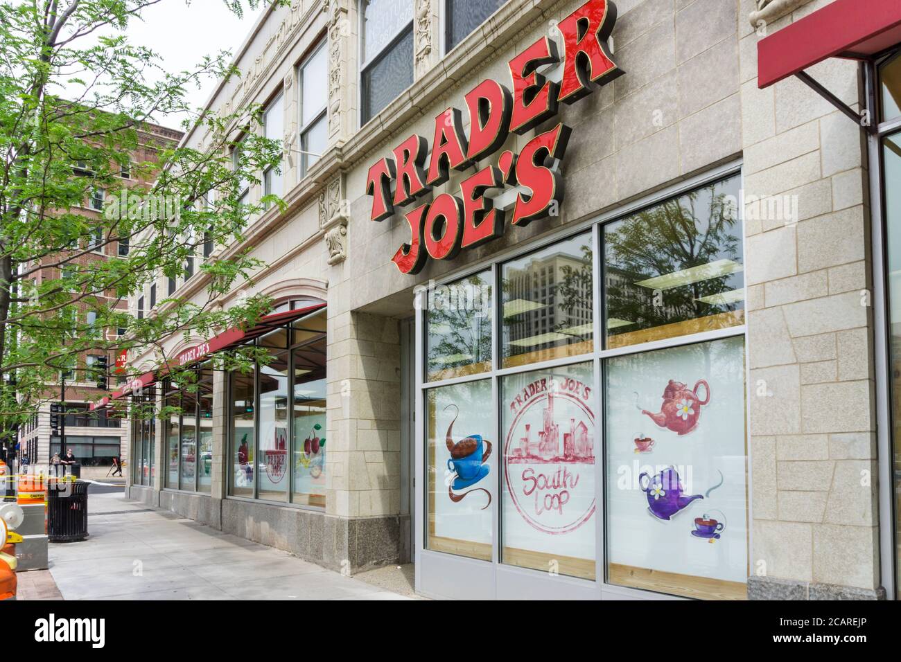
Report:
[[[356,571],[400,552],[400,338],[396,320],[352,312],[328,337],[326,513]]]

